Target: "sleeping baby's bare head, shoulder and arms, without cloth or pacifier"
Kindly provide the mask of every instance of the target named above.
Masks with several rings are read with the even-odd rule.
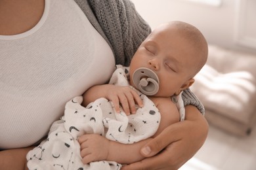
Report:
[[[161,113],[160,126],[152,137],[158,135],[170,124],[179,122],[179,110],[172,97],[179,95],[182,90],[194,83],[193,77],[207,60],[207,49],[207,42],[202,33],[196,27],[179,21],[160,25],[139,46],[129,67],[129,84],[137,88],[133,75],[141,67],[154,71],[160,82],[158,92],[149,97]],[[99,97],[105,97],[114,103],[117,112],[121,103],[127,114],[135,113],[135,102],[142,107],[139,94],[123,86],[111,84],[93,86],[85,92],[83,97],[84,105]],[[114,160],[118,163],[139,161],[143,159],[139,150],[148,142],[141,141],[135,147],[108,141],[98,136],[100,144],[96,146],[96,142],[89,139],[90,137],[79,138],[84,163],[97,160]]]

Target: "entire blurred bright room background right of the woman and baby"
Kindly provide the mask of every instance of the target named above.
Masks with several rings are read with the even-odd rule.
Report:
[[[181,170],[256,169],[256,1],[132,1],[152,29],[181,20],[209,43],[207,67],[192,88],[205,106],[209,135]]]

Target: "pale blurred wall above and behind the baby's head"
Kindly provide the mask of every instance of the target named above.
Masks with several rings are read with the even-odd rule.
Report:
[[[187,0],[132,1],[152,29],[182,20],[198,27],[211,44],[256,54],[255,0],[222,0],[219,7]]]

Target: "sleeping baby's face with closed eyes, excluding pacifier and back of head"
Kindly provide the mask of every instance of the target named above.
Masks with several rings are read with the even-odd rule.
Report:
[[[151,69],[158,75],[160,90],[156,97],[169,97],[180,92],[191,77],[191,69],[195,61],[191,55],[196,55],[192,45],[174,27],[160,27],[139,46],[130,65],[130,80],[133,83],[133,73],[140,67]],[[184,90],[184,89],[182,89]]]

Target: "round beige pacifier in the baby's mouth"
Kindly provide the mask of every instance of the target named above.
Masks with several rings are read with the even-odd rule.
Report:
[[[141,67],[133,73],[133,82],[137,89],[145,95],[154,95],[159,90],[158,75],[151,69]]]

